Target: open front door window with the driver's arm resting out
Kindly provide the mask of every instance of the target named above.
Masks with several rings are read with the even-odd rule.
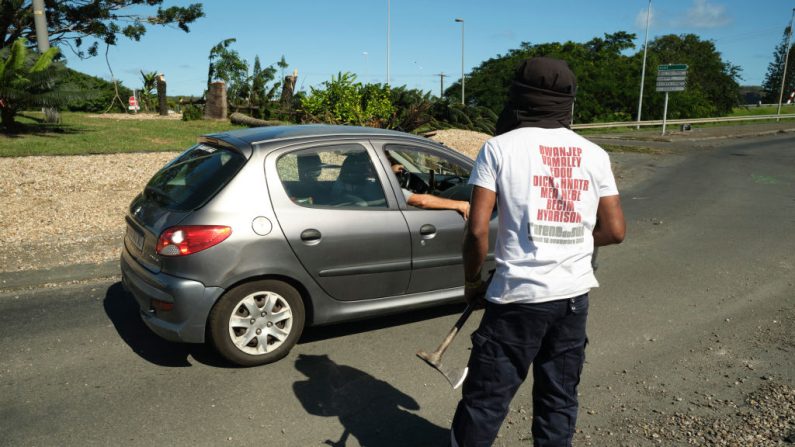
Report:
[[[467,182],[471,171],[465,164],[420,148],[387,145],[384,150],[404,194],[469,200],[472,187]]]

